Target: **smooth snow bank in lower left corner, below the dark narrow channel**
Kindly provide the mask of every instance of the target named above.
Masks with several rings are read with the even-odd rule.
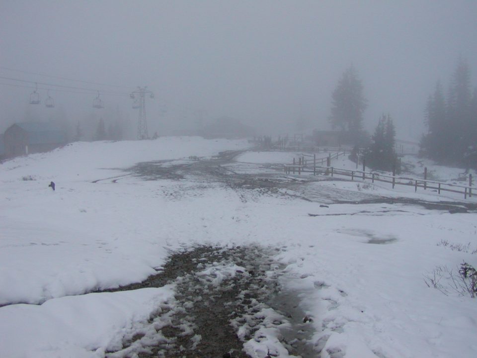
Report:
[[[122,348],[122,337],[160,305],[169,286],[51,299],[0,309],[0,353],[8,358],[98,358]]]

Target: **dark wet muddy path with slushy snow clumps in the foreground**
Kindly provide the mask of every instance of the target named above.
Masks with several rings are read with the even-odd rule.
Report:
[[[173,284],[176,301],[106,357],[317,357],[313,318],[283,286],[279,250],[198,246],[173,253],[142,283],[107,290]]]

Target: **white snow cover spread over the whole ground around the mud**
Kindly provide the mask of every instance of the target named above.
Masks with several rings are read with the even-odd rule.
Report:
[[[197,137],[74,143],[0,164],[0,357],[104,357],[120,349],[121,338],[160,313],[161,304],[174,304],[174,287],[87,292],[141,281],[171,250],[203,243],[280,247],[283,284],[313,318],[323,358],[477,356],[477,301],[425,282],[436,267],[477,267],[475,212],[333,204],[324,195],[328,207],[319,205],[325,192],[463,198],[416,196],[386,183],[314,181],[304,184],[315,193],[312,202],[255,189],[253,200],[243,200],[218,183],[144,180],[122,171],[247,145]],[[293,155],[248,152],[236,166],[261,174],[262,164],[289,163]],[[439,179],[457,175],[442,173]],[[444,241],[470,249],[451,250]]]

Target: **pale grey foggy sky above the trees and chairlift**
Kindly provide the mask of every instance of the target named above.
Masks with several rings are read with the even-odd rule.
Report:
[[[4,85],[31,83],[5,78],[125,94],[148,86],[156,94],[148,124],[159,134],[199,112],[204,122],[232,116],[263,134],[292,134],[300,116],[329,129],[331,92],[353,65],[367,129],[390,113],[398,136],[418,139],[426,98],[437,80],[447,87],[459,56],[477,84],[476,18],[474,0],[0,0],[0,130],[52,110],[28,104],[32,89]],[[50,95],[69,118],[93,110],[95,95]],[[137,117],[128,96],[102,99]]]

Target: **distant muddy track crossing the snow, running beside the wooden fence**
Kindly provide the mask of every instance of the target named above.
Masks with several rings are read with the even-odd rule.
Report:
[[[246,151],[226,151],[211,158],[191,157],[181,161],[152,161],[138,163],[128,169],[129,174],[146,180],[189,179],[202,183],[221,183],[235,190],[242,201],[246,201],[244,190],[258,190],[261,194],[286,196],[311,202],[326,204],[404,204],[417,205],[428,210],[443,210],[450,212],[477,211],[477,204],[464,201],[426,201],[409,197],[390,198],[370,192],[360,192],[310,185],[317,181],[349,181],[331,177],[291,176],[271,165],[256,165],[268,168],[260,174],[240,173],[234,164],[235,158]],[[112,181],[120,180],[123,176]],[[97,180],[96,180],[97,181]],[[287,190],[288,189],[288,190]]]

